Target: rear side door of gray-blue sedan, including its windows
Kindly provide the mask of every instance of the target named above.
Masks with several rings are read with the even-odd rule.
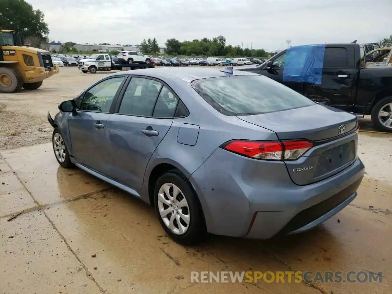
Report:
[[[117,113],[106,123],[105,140],[112,158],[108,176],[139,190],[152,153],[169,131],[178,103],[177,96],[162,82],[132,77]]]

